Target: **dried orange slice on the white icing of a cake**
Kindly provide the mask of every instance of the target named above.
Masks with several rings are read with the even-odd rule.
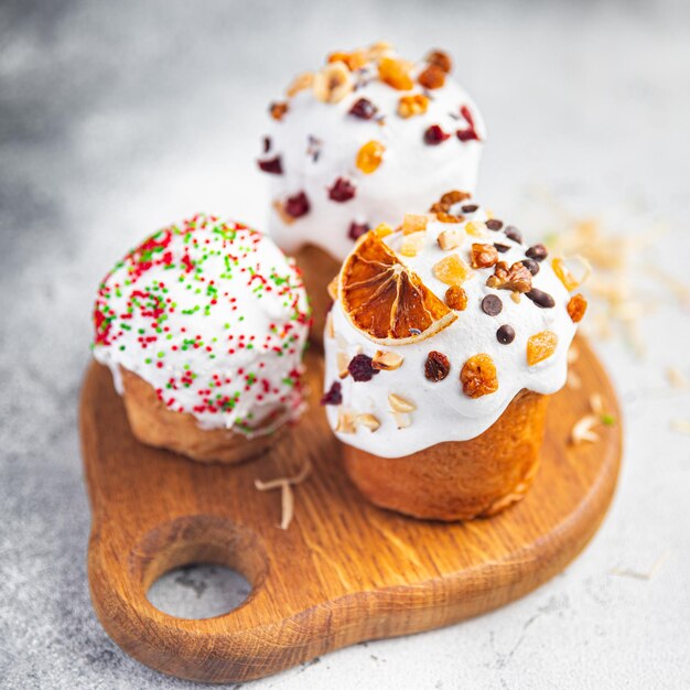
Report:
[[[345,260],[338,292],[353,325],[384,345],[423,341],[457,319],[376,233]]]

